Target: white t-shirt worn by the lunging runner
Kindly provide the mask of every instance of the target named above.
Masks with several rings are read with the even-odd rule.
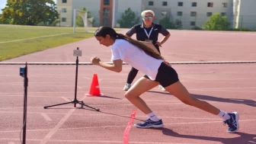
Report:
[[[155,80],[158,68],[164,61],[147,55],[143,50],[140,50],[138,47],[126,40],[117,39],[111,46],[111,52],[112,62],[117,59],[122,59],[123,62],[126,62],[135,69],[145,73],[152,80]]]

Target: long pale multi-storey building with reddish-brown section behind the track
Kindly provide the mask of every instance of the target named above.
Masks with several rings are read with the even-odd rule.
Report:
[[[116,27],[127,8],[140,17],[143,10],[155,12],[155,23],[166,16],[181,21],[182,28],[202,26],[214,13],[225,15],[232,27],[256,29],[256,0],[57,0],[61,26],[72,26],[73,9],[87,8],[94,17],[94,26]]]

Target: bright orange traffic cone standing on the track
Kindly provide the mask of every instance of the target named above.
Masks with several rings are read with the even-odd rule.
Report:
[[[101,96],[101,90],[100,90],[100,85],[98,83],[98,75],[94,74],[92,81],[91,81],[91,88],[88,92],[88,94],[85,94],[87,96]]]

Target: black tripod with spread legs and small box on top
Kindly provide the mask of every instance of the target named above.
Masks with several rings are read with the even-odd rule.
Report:
[[[75,99],[70,101],[70,102],[66,102],[66,103],[62,103],[62,104],[54,104],[54,105],[50,105],[50,106],[45,106],[45,107],[43,107],[44,109],[46,109],[47,107],[54,107],[54,106],[63,105],[63,104],[74,104],[74,107],[76,107],[76,104],[81,104],[82,106],[90,107],[90,108],[92,108],[94,110],[100,111],[100,109],[88,106],[83,101],[78,101],[76,99],[77,78],[78,78],[78,56],[82,56],[82,52],[79,50],[79,48],[77,48],[77,50],[74,50],[74,56],[76,56],[76,63],[75,63],[76,64],[76,71],[75,71]]]

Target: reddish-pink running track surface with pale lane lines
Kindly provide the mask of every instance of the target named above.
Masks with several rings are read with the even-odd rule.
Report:
[[[209,32],[195,31],[173,31],[172,43],[168,47],[162,48],[163,55],[168,59],[177,61],[197,61],[200,56],[203,60],[255,60],[256,56],[251,50],[251,44],[244,43],[243,49],[233,48],[232,44],[238,44],[239,40],[234,40],[236,33],[230,33],[230,43],[224,43],[222,38],[217,38],[215,34]],[[219,48],[210,47],[203,50],[204,41],[197,41],[197,56],[195,49],[184,46],[185,43],[194,42],[192,40],[181,40],[179,48],[175,49],[175,40],[181,39],[184,34],[192,34],[200,38],[200,34],[205,33],[205,40],[216,36],[215,40],[222,42],[222,52],[229,52],[228,56],[223,53],[211,53]],[[213,32],[220,33],[220,32]],[[225,32],[223,32],[225,33]],[[176,37],[174,35],[177,34]],[[223,35],[219,35],[222,37]],[[251,34],[245,34],[250,40]],[[188,37],[188,36],[187,36]],[[192,39],[192,38],[191,38]],[[225,37],[225,39],[228,39]],[[231,40],[232,39],[232,40]],[[97,56],[108,61],[109,49],[103,46],[94,46],[87,43],[94,39],[82,40],[63,46],[62,53],[53,53],[60,47],[52,50],[45,50],[17,59],[10,59],[6,62],[73,62],[72,50],[76,46],[88,48],[90,54],[84,54],[82,61],[88,62],[91,53],[98,53]],[[252,40],[252,38],[251,38]],[[86,43],[83,43],[85,42]],[[252,40],[253,41],[253,40]],[[98,44],[98,43],[97,43]],[[215,43],[216,44],[216,43]],[[251,45],[251,46],[249,46]],[[100,49],[102,51],[100,51]],[[98,51],[97,51],[98,50]],[[176,50],[176,51],[175,51]],[[182,53],[190,55],[171,56],[170,53],[184,50]],[[235,52],[236,51],[236,52]],[[65,54],[64,54],[65,53]],[[239,54],[238,54],[239,53]],[[220,54],[220,55],[219,55]],[[52,56],[52,57],[51,57]],[[58,57],[60,56],[60,57]],[[184,58],[182,58],[184,56]],[[251,57],[250,57],[251,56]],[[254,56],[254,58],[253,58]],[[56,59],[54,59],[54,57]],[[60,59],[60,58],[63,59]],[[207,57],[207,58],[206,58]],[[36,59],[37,58],[37,59]],[[239,59],[238,59],[239,58]],[[16,144],[20,143],[20,133],[23,120],[23,78],[19,76],[20,66],[0,66],[0,143]],[[149,107],[161,117],[165,123],[162,129],[137,129],[131,127],[130,143],[142,144],[181,144],[181,143],[210,143],[210,144],[247,144],[256,142],[256,65],[254,64],[218,64],[218,65],[174,65],[181,82],[195,98],[208,101],[222,110],[232,112],[238,111],[240,114],[240,130],[238,133],[226,133],[227,126],[222,125],[222,120],[212,114],[208,114],[195,107],[182,104],[177,98],[165,91],[153,88],[151,91],[142,94],[142,98],[149,104]],[[123,94],[123,85],[126,76],[130,71],[130,66],[123,66],[123,72],[115,73],[98,66],[79,66],[78,68],[78,100],[85,101],[92,107],[101,109],[97,112],[87,107],[74,108],[73,104],[50,107],[43,109],[46,105],[59,104],[71,101],[74,98],[75,90],[75,66],[28,66],[28,98],[27,98],[27,143],[123,143],[123,132],[130,120],[131,110],[136,110],[134,123],[146,120],[145,114],[137,110]],[[86,97],[91,78],[94,73],[98,74],[101,97]],[[143,74],[139,72],[136,79]],[[22,137],[22,136],[21,136]]]

